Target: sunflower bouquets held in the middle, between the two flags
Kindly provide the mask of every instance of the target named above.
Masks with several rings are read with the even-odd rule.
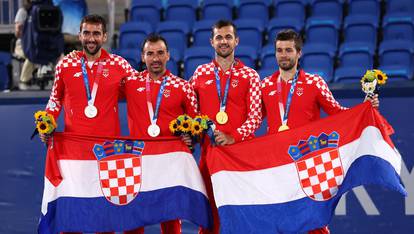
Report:
[[[197,115],[194,118],[191,118],[186,114],[180,115],[170,122],[169,128],[172,134],[176,136],[188,134],[193,141],[199,141],[202,134],[207,133],[210,138],[213,136],[212,142],[214,142],[214,134],[212,133],[215,129],[215,125],[207,115]]]

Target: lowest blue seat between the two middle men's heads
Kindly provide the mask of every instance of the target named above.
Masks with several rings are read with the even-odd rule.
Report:
[[[214,58],[212,47],[199,46],[188,48],[184,53],[184,79],[188,80],[194,74],[195,69],[204,63],[209,63]]]

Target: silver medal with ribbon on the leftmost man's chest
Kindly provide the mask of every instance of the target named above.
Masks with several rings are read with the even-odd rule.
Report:
[[[89,88],[88,72],[86,71],[86,64],[84,58],[81,58],[83,84],[86,90],[86,97],[88,99],[88,105],[84,109],[84,114],[87,118],[92,119],[98,115],[98,108],[96,108],[95,99],[96,93],[98,92],[99,80],[102,74],[102,63],[98,65],[98,71],[96,72],[95,81],[93,82],[92,92]]]

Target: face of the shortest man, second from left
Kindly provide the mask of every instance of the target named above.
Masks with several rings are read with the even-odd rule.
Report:
[[[167,70],[170,53],[162,40],[156,42],[147,41],[143,48],[141,60],[147,66],[149,73],[162,75]]]

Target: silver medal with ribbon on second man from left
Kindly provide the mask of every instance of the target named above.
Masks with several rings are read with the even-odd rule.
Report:
[[[155,104],[155,113],[154,113],[154,109],[152,107],[152,101],[151,101],[151,86],[150,86],[149,74],[147,75],[147,79],[145,82],[145,85],[146,85],[145,91],[147,94],[148,114],[149,114],[150,121],[151,121],[150,126],[148,126],[147,133],[150,137],[157,137],[161,133],[160,126],[157,125],[157,120],[158,120],[161,100],[162,100],[162,96],[164,93],[165,84],[167,80],[168,80],[168,76],[165,77],[161,83],[160,90],[158,91],[158,95],[157,95],[157,103]]]

